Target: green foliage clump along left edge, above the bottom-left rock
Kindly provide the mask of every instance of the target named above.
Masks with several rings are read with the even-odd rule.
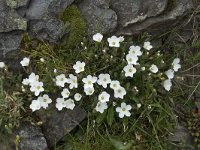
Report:
[[[19,89],[21,76],[8,72],[7,68],[0,70],[0,136],[12,133],[14,127],[19,126],[22,97]]]

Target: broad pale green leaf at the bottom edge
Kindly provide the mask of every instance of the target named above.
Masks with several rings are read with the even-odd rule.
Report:
[[[117,149],[117,150],[129,150],[133,146],[133,141],[124,143],[122,141],[119,141],[114,138],[109,138],[111,144]]]

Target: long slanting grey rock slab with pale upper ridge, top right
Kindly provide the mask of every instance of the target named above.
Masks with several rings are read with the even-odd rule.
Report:
[[[153,34],[161,33],[183,22],[184,16],[186,16],[192,8],[193,3],[191,0],[176,0],[174,6],[172,8],[166,8],[162,14],[149,18],[141,16],[139,20],[143,21],[132,21],[126,24],[126,27],[118,29],[118,34],[133,35],[143,31]]]

